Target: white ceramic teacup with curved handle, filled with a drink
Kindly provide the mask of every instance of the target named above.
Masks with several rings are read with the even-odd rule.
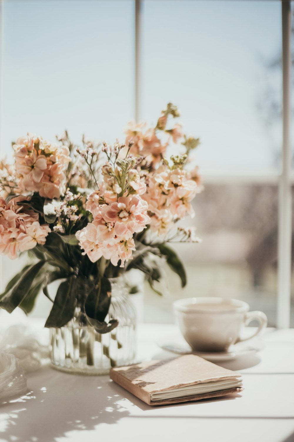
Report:
[[[180,331],[195,351],[226,351],[231,344],[253,338],[266,327],[263,312],[249,312],[249,305],[237,299],[186,298],[173,303]],[[257,320],[257,331],[241,338],[244,326]]]

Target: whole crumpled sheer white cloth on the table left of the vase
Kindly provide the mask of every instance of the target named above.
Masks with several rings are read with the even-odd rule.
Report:
[[[40,368],[48,358],[42,345],[25,325],[12,325],[0,334],[0,399],[27,392],[24,373]]]

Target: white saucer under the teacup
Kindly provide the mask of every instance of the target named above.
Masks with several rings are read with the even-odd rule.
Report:
[[[175,354],[197,354],[210,362],[231,361],[243,356],[249,356],[264,348],[264,342],[260,338],[252,338],[245,342],[231,345],[227,351],[218,353],[206,353],[193,351],[186,343],[182,335],[173,335],[157,341],[157,345],[165,351]]]

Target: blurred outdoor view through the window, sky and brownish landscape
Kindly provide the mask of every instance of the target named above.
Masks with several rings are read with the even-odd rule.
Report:
[[[134,0],[3,0],[2,23],[2,156],[27,132],[124,139],[135,117]],[[202,243],[177,246],[188,284],[164,268],[165,295],[147,288],[141,318],[173,322],[175,299],[222,296],[275,326],[281,4],[142,0],[139,52],[140,119],[155,126],[168,102],[178,105],[184,132],[201,138],[194,160],[205,186],[185,223]],[[20,265],[3,259],[3,286]],[[294,327],[294,270],[292,286]],[[34,315],[48,309],[40,299]]]

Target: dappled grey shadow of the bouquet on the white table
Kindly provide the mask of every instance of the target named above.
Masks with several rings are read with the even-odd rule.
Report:
[[[33,390],[1,402],[0,413],[7,418],[2,418],[0,440],[54,442],[71,431],[117,423],[130,415],[130,404],[114,390],[110,393],[109,384],[108,376],[76,376],[49,367],[31,373],[28,388],[33,385]]]

